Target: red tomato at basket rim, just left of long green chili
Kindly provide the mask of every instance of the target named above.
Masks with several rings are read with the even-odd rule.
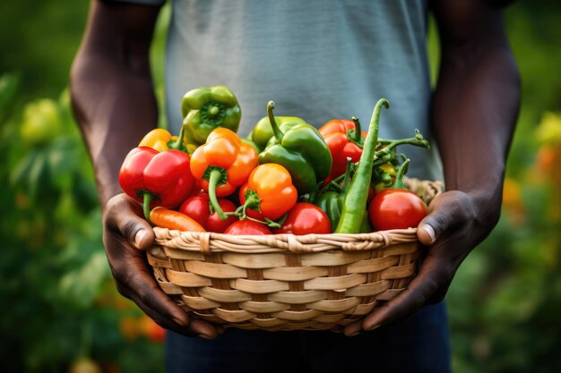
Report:
[[[287,218],[280,228],[272,230],[273,233],[331,233],[331,223],[324,210],[314,204],[298,202],[289,210]]]

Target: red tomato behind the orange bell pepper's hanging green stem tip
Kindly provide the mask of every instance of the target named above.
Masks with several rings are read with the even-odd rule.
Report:
[[[218,203],[224,212],[236,211],[236,205],[229,199],[218,199]],[[203,225],[208,232],[222,233],[237,220],[237,217],[233,215],[228,216],[226,220],[221,220],[216,211],[211,214],[210,206],[209,195],[202,193],[186,199],[181,204],[179,212],[192,217],[197,223]]]

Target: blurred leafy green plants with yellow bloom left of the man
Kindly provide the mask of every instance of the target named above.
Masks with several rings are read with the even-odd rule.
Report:
[[[0,297],[9,300],[0,371],[161,371],[161,343],[150,335],[157,329],[148,329],[110,276],[91,164],[68,93],[17,106],[18,82],[0,78]],[[121,334],[120,319],[131,316],[146,338]]]

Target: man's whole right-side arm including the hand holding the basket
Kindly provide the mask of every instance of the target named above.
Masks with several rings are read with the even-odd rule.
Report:
[[[501,10],[480,0],[436,0],[433,11],[442,53],[431,113],[446,192],[419,225],[419,240],[428,248],[418,276],[363,322],[348,326],[347,335],[442,300],[463,259],[500,216],[520,100],[519,73]]]

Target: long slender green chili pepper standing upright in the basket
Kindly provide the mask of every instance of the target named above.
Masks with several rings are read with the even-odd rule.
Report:
[[[362,220],[367,211],[368,187],[372,180],[372,165],[378,142],[382,106],[387,109],[390,107],[390,102],[385,98],[381,98],[374,106],[370,125],[368,126],[367,139],[364,141],[364,148],[362,148],[362,155],[358,161],[357,170],[350,182],[349,190],[345,193],[341,219],[337,228],[335,228],[336,233],[360,232]]]

